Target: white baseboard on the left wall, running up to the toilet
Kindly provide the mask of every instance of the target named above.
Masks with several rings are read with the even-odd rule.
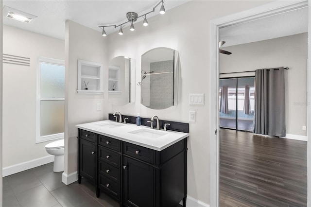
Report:
[[[27,162],[18,163],[16,165],[11,165],[5,168],[2,168],[2,177],[19,173],[25,170],[29,170],[41,165],[48,164],[50,162],[54,162],[54,155],[48,155],[41,158],[33,159]]]

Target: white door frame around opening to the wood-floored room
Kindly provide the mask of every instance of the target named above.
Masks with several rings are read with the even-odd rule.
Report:
[[[210,70],[209,70],[209,206],[219,206],[219,29],[222,27],[277,15],[283,12],[306,7],[308,8],[308,64],[307,64],[307,206],[311,203],[311,1],[275,1],[233,15],[220,17],[210,21]]]

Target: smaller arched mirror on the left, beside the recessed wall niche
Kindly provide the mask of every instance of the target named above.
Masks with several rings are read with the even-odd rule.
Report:
[[[125,105],[135,101],[135,60],[118,56],[109,61],[109,103]]]

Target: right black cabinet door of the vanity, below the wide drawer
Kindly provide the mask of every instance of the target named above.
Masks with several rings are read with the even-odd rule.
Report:
[[[124,205],[127,207],[155,206],[154,168],[124,156]]]

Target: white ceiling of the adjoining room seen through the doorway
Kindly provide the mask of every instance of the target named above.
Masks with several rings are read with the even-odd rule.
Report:
[[[223,47],[308,32],[308,7],[284,12],[219,30]]]

